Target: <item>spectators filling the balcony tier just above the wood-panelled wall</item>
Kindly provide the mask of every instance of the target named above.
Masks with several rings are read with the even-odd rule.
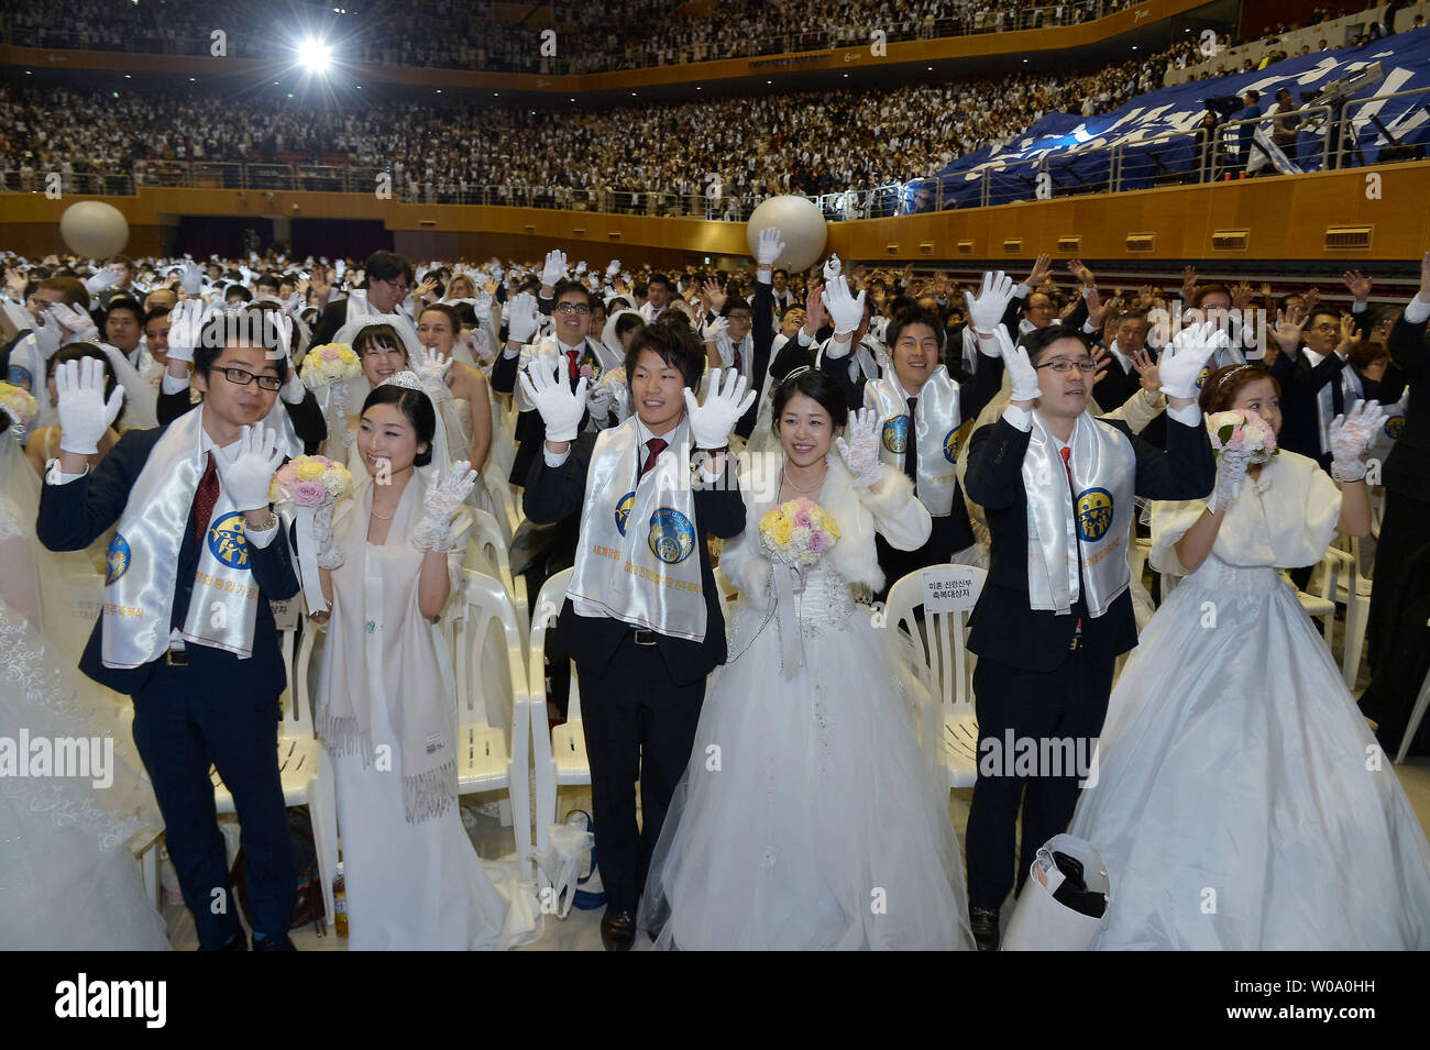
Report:
[[[116,99],[0,87],[0,177],[3,189],[26,191],[57,171],[64,191],[93,191],[96,181],[103,189],[124,174],[139,186],[196,184],[187,164],[296,163],[386,171],[393,194],[412,201],[629,210],[645,197],[659,201],[648,209],[654,214],[741,217],[768,196],[867,191],[932,176],[1047,113],[1115,109],[1160,87],[1158,70],[1160,56],[1150,54],[1091,73],[575,113],[396,100],[335,111],[283,94],[235,107],[200,91]],[[56,126],[54,111],[73,120]],[[303,183],[325,186],[345,189],[340,180]]]

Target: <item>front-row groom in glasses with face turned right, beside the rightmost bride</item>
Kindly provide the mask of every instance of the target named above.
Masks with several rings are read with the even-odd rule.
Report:
[[[1221,337],[1224,339],[1224,337]],[[968,446],[968,497],[984,507],[991,567],[974,607],[978,654],[978,780],[968,813],[968,903],[978,947],[998,947],[998,910],[1014,886],[1014,823],[1022,806],[1018,886],[1038,847],[1077,807],[1078,770],[1007,776],[1017,741],[1095,741],[1113,667],[1137,644],[1127,539],[1134,497],[1193,500],[1211,491],[1216,461],[1195,379],[1216,349],[1210,324],[1184,330],[1160,361],[1167,450],[1087,411],[1097,366],[1077,331],[1048,326],[1005,354],[1012,400]],[[1062,754],[1068,754],[1062,749]],[[1007,764],[1005,764],[1007,761]],[[1024,797],[1024,789],[1027,796]]]

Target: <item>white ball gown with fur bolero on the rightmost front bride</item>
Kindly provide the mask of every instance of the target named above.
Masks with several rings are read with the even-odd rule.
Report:
[[[1154,504],[1154,567],[1184,574],[1203,506]],[[1068,829],[1107,861],[1098,949],[1430,949],[1430,844],[1277,576],[1314,564],[1338,514],[1283,450],[1133,650]]]

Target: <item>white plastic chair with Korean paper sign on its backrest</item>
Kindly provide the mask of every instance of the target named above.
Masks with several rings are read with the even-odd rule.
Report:
[[[947,613],[925,613],[919,630],[914,613],[924,606],[924,573],[957,570],[972,579],[971,594]],[[884,607],[889,630],[914,640],[922,666],[938,687],[944,747],[941,759],[948,787],[972,787],[978,779],[978,716],[974,711],[972,660],[965,647],[968,614],[982,593],[988,573],[974,566],[931,566],[909,573],[889,589]]]

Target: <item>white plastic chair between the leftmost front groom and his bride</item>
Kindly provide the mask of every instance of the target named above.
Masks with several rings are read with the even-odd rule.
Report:
[[[327,749],[313,733],[313,709],[307,694],[307,669],[313,660],[313,640],[317,637],[317,630],[312,621],[305,623],[295,667],[296,636],[296,630],[279,633],[287,689],[283,691],[283,720],[277,731],[277,769],[283,786],[283,804],[307,806],[307,814],[313,821],[317,876],[323,884],[323,909],[330,923],[337,914],[333,906],[333,876],[337,871],[337,796]],[[216,769],[209,770],[209,779],[213,781],[214,809],[219,813],[236,813],[233,796],[223,786]]]

